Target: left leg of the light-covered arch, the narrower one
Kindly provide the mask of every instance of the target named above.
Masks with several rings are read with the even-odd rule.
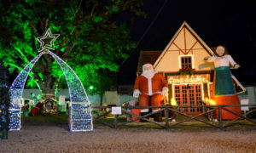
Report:
[[[9,106],[9,129],[20,130],[20,113],[21,113],[21,98],[23,89],[26,83],[28,73],[32,70],[32,67],[38,61],[38,59],[44,54],[44,52],[38,54],[32,61],[26,65],[26,67],[20,71],[18,77],[12,83],[10,93],[10,106]]]

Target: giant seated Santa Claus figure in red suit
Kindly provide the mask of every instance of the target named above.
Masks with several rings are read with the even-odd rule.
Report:
[[[143,74],[138,76],[135,81],[133,97],[138,98],[140,106],[160,106],[164,97],[168,93],[166,78],[154,71],[153,65],[143,65]],[[158,111],[160,108],[152,108],[152,111]],[[149,109],[141,109],[141,115],[145,115]],[[155,121],[161,118],[155,117]]]

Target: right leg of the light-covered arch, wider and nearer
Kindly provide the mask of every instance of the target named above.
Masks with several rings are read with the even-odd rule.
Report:
[[[70,131],[77,132],[92,130],[93,123],[91,119],[90,101],[82,82],[66,62],[50,51],[48,51],[47,54],[52,55],[58,62],[67,80],[71,99]]]

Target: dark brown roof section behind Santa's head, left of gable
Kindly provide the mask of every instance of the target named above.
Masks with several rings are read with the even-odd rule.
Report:
[[[156,59],[159,58],[162,51],[141,51],[137,64],[137,73],[143,72],[143,65],[150,63],[154,65]]]

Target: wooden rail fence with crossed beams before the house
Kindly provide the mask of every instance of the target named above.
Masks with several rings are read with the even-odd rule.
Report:
[[[241,115],[241,114],[231,111],[229,109],[230,107],[240,107],[241,108],[241,106],[243,106],[243,107],[248,106],[250,108],[250,111],[247,111],[243,115]],[[162,105],[162,106],[148,106],[148,107],[142,107],[142,106],[136,106],[136,107],[120,106],[120,107],[121,107],[123,115],[134,116],[134,119],[131,119],[130,121],[126,121],[126,122],[119,122],[119,116],[114,115],[113,122],[104,122],[100,118],[102,116],[106,116],[109,113],[111,113],[111,110],[108,110],[108,109],[111,109],[111,106],[95,106],[95,107],[93,107],[94,111],[96,111],[96,110],[100,110],[100,111],[108,110],[108,111],[105,111],[102,114],[99,114],[98,116],[94,116],[94,121],[99,122],[108,127],[119,128],[121,126],[127,125],[128,123],[135,122],[137,120],[142,120],[142,121],[152,123],[154,125],[157,125],[159,127],[165,128],[165,129],[169,129],[170,127],[177,126],[178,124],[182,124],[184,122],[190,122],[192,120],[195,120],[197,122],[202,122],[211,127],[216,127],[219,129],[222,129],[224,127],[229,127],[232,122],[236,122],[237,120],[241,120],[241,119],[247,120],[247,122],[256,123],[256,119],[247,117],[247,115],[252,114],[254,111],[256,111],[256,105],[197,105],[197,106]],[[229,108],[227,108],[227,107],[229,107]],[[146,108],[147,109],[159,108],[159,110],[150,112],[144,116],[137,116],[137,115],[131,113],[131,111],[127,111],[128,109],[146,109]],[[202,112],[200,114],[192,116],[192,115],[188,115],[182,111],[178,111],[178,110],[182,110],[182,108],[200,108],[202,110]],[[217,120],[217,122],[212,122],[212,119],[214,118],[215,111],[218,111],[218,120]],[[227,111],[227,112],[230,112],[231,114],[236,115],[236,118],[224,122],[222,119],[223,111]],[[165,118],[164,122],[155,122],[155,121],[148,119],[148,116],[152,116],[152,115],[158,114],[158,113],[164,114],[164,116],[163,116]],[[182,121],[177,121],[177,122],[171,123],[170,122],[170,119],[171,119],[170,113],[172,113],[172,119],[175,117],[175,115],[176,116],[177,115],[185,116],[186,118],[183,119]],[[205,116],[207,118],[207,120],[201,119],[200,116]]]

